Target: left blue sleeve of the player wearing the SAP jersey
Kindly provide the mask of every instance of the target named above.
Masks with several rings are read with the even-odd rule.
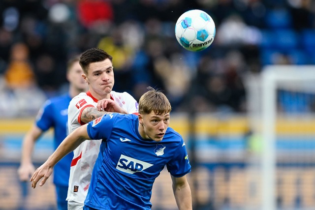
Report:
[[[90,121],[87,127],[90,139],[109,139],[116,116],[111,113]]]

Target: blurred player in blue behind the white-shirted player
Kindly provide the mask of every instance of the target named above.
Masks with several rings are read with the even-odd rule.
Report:
[[[21,181],[30,180],[30,176],[34,173],[34,165],[32,164],[32,152],[35,142],[39,137],[54,127],[54,148],[60,145],[68,134],[68,106],[71,99],[87,90],[87,83],[82,78],[82,68],[79,64],[79,56],[74,57],[67,63],[66,77],[69,81],[68,93],[53,97],[45,102],[42,109],[38,112],[35,123],[27,132],[23,139],[21,165],[18,174]],[[67,210],[67,190],[70,174],[70,163],[73,152],[66,155],[54,170],[54,184],[56,186],[56,198],[58,210]]]

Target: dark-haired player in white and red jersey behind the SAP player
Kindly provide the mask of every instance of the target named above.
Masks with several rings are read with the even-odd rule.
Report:
[[[138,114],[138,103],[130,94],[113,91],[112,60],[112,56],[97,48],[82,53],[79,62],[89,91],[80,93],[69,104],[70,133],[106,112]],[[85,141],[73,151],[67,196],[69,210],[83,209],[100,144],[101,140]]]

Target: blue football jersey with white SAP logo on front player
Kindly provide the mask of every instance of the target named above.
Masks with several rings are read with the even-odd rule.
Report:
[[[149,210],[155,179],[166,166],[174,177],[190,172],[182,136],[168,127],[162,141],[143,139],[138,116],[109,114],[88,124],[102,139],[85,205],[99,210]],[[170,186],[171,188],[171,186]]]

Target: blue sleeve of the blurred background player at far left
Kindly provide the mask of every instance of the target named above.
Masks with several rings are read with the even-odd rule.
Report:
[[[50,127],[54,126],[53,120],[53,104],[47,100],[37,113],[35,124],[42,131],[47,131]]]

